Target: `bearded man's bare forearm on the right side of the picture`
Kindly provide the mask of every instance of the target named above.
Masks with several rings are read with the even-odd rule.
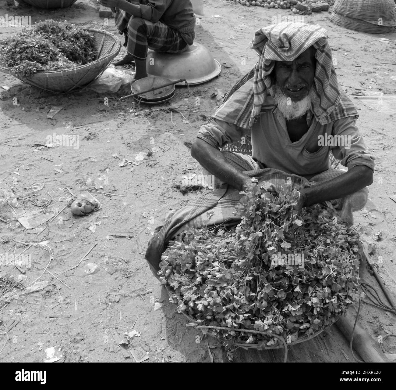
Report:
[[[326,200],[344,198],[372,183],[372,169],[366,165],[355,165],[335,179],[301,190],[301,200],[297,204],[297,209]]]

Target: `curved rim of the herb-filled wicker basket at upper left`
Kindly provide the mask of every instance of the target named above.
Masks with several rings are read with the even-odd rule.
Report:
[[[7,69],[6,67],[3,67],[0,65],[0,71],[2,71],[3,73],[8,73],[12,76],[17,77],[20,80],[29,80],[32,77],[36,77],[36,78],[46,78],[46,77],[52,77],[52,76],[60,76],[63,77],[65,75],[69,75],[72,73],[76,73],[82,69],[86,69],[87,67],[92,67],[93,65],[97,65],[97,64],[102,64],[104,62],[107,61],[111,61],[114,57],[117,56],[117,54],[120,52],[121,50],[121,42],[120,40],[112,33],[108,33],[107,31],[102,31],[102,30],[98,30],[98,29],[91,29],[91,28],[86,28],[86,27],[82,27],[83,30],[89,31],[89,32],[93,32],[93,33],[100,33],[102,35],[107,35],[108,37],[112,38],[114,40],[114,42],[116,43],[116,50],[113,53],[107,54],[106,56],[102,57],[102,58],[98,58],[97,60],[93,60],[89,63],[86,63],[85,65],[78,65],[76,67],[70,68],[70,69],[65,69],[65,70],[56,70],[56,71],[48,71],[48,72],[43,72],[43,71],[38,71],[36,73],[33,73],[30,77],[25,77],[25,76],[21,76],[18,73]]]

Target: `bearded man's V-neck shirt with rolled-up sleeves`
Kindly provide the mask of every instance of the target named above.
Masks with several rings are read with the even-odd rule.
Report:
[[[305,176],[329,169],[331,152],[348,169],[366,165],[374,171],[375,157],[367,150],[355,122],[356,117],[350,116],[321,125],[313,117],[307,133],[291,142],[286,119],[274,108],[259,116],[251,129],[252,157],[265,167]],[[203,125],[197,134],[215,148],[244,136],[244,129],[219,119]]]

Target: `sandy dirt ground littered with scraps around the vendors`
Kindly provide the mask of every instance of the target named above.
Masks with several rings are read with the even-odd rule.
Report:
[[[114,19],[105,26],[98,10],[93,0],[78,0],[70,8],[53,11],[0,0],[2,15],[31,15],[33,23],[48,18],[67,20],[122,38]],[[0,298],[0,361],[45,361],[45,351],[55,347],[59,362],[131,362],[133,359],[125,358],[117,344],[116,334],[122,339],[132,330],[140,336],[131,338],[127,355],[133,352],[137,360],[209,362],[212,354],[215,362],[227,361],[214,340],[200,340],[197,330],[186,327],[187,320],[168,302],[166,290],[151,274],[144,254],[152,229],[164,216],[206,191],[183,195],[173,186],[181,183],[183,175],[200,172],[190,156],[190,143],[217,107],[216,95],[226,93],[254,66],[257,56],[248,43],[255,30],[270,24],[278,13],[291,13],[247,8],[225,0],[206,0],[204,13],[196,26],[196,42],[204,44],[222,64],[221,75],[192,86],[189,98],[175,96],[163,106],[138,109],[129,100],[116,104],[114,95],[108,96],[109,104],[105,105],[107,96],[94,93],[54,96],[0,73],[0,87],[10,87],[0,88],[0,188],[12,188],[19,198],[14,210],[3,206],[0,211],[0,253],[31,256],[25,286],[37,278],[48,281],[38,292],[23,294],[27,289],[20,290],[17,299],[10,302]],[[381,275],[394,294],[396,203],[390,196],[396,192],[396,117],[357,97],[362,90],[382,92],[384,101],[396,96],[396,68],[392,64],[396,33],[385,36],[350,31],[331,23],[327,12],[305,15],[305,21],[318,23],[329,32],[339,84],[353,98],[360,113],[360,132],[376,156],[370,200],[365,210],[355,213],[355,227],[370,242],[374,242],[373,234],[382,231],[373,259],[378,261],[382,256]],[[0,38],[17,31],[15,27],[1,27]],[[170,104],[179,105],[188,122],[177,112],[171,117],[167,110]],[[63,110],[48,119],[51,105],[63,106]],[[78,135],[79,148],[39,145],[46,145],[53,133]],[[120,166],[124,159],[133,161],[139,152],[150,152],[143,163]],[[43,186],[39,189],[34,183]],[[76,194],[84,187],[118,196],[92,192],[103,204],[101,210],[74,216],[68,206],[70,192]],[[16,219],[25,211],[56,217],[44,231],[48,222],[25,229]],[[129,232],[130,237],[110,236],[114,232]],[[94,244],[84,261],[67,271]],[[87,263],[96,264],[97,271],[85,275]],[[3,261],[0,277],[15,275],[17,280],[21,272],[14,265]],[[367,270],[362,269],[361,276],[380,290]],[[12,285],[3,287],[0,293]],[[396,333],[395,316],[375,307],[363,304],[360,322],[375,339]],[[386,341],[386,350],[396,353],[391,339]],[[239,350],[234,361],[280,362],[283,354],[282,350]],[[333,326],[291,348],[288,361],[352,362],[354,358],[347,340]]]

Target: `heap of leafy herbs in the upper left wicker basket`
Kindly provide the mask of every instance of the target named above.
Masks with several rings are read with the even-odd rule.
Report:
[[[96,54],[95,39],[88,31],[51,19],[0,40],[0,65],[25,77],[86,65]]]

